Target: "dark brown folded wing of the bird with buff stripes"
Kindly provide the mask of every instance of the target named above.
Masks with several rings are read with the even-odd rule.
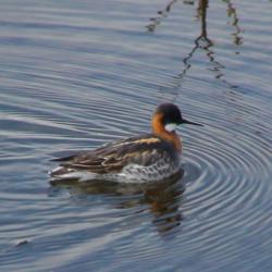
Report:
[[[171,146],[161,138],[146,135],[108,144],[96,150],[59,159],[59,161],[64,168],[104,174],[119,172],[131,163],[150,165],[161,156],[168,157],[171,153],[168,150],[170,148]]]

